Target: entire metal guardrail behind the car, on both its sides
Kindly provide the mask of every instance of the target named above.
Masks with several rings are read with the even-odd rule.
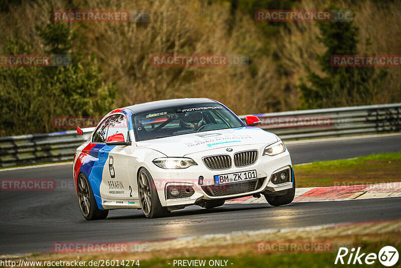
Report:
[[[401,103],[254,115],[284,141],[401,131]],[[0,138],[0,167],[72,160],[89,136],[70,130]]]

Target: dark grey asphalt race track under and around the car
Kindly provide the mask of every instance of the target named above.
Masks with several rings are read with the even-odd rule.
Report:
[[[401,151],[401,135],[286,143],[294,164]],[[1,179],[72,181],[72,164],[0,171]],[[55,242],[131,242],[240,230],[401,219],[401,197],[268,204],[191,206],[169,217],[146,219],[140,210],[113,210],[86,221],[71,186],[56,191],[0,191],[0,255],[51,251]]]

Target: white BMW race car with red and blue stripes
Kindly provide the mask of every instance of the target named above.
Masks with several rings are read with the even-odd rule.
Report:
[[[270,205],[292,202],[291,158],[273,133],[244,123],[206,98],[161,100],[109,112],[74,155],[74,182],[87,220],[109,209],[142,209],[148,218],[189,205],[263,194]]]

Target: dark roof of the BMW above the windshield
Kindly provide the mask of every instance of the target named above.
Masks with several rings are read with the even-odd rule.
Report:
[[[132,113],[139,113],[144,111],[150,111],[161,108],[174,107],[179,105],[197,104],[197,103],[218,103],[216,100],[208,98],[184,98],[184,99],[165,99],[156,100],[131,106],[124,107],[124,109],[130,109]]]

